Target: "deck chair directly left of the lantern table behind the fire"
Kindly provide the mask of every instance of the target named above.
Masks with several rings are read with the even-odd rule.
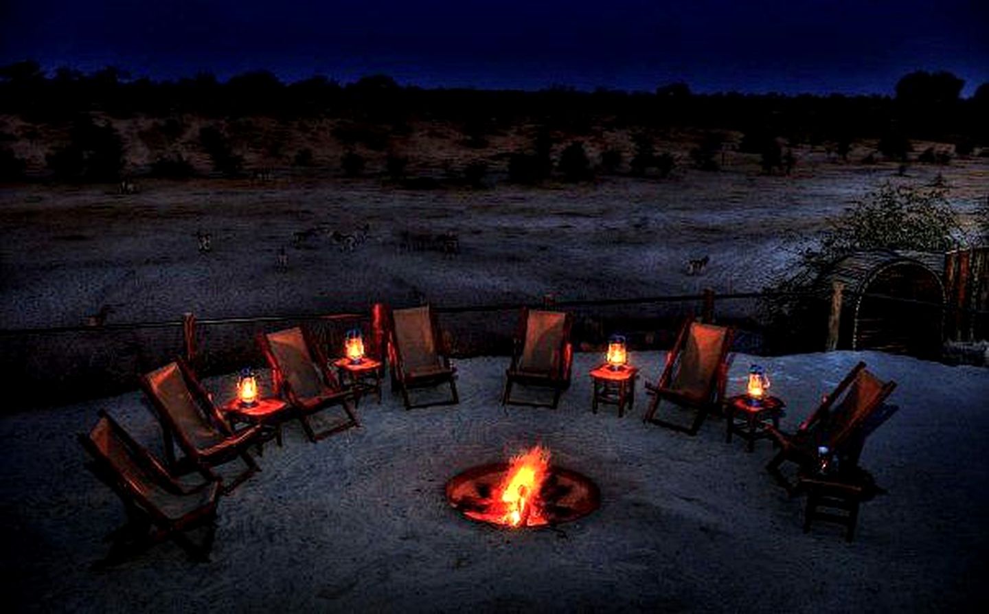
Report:
[[[556,408],[560,395],[570,388],[570,372],[574,362],[574,347],[570,331],[574,317],[563,311],[546,311],[522,307],[515,332],[511,364],[505,371],[501,404],[532,405]],[[515,384],[553,390],[552,402],[536,402],[512,398]]]

